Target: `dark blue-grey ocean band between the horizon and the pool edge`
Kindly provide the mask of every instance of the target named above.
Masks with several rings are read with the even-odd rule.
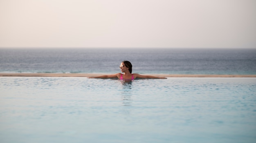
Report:
[[[1,73],[256,74],[256,49],[0,48]]]

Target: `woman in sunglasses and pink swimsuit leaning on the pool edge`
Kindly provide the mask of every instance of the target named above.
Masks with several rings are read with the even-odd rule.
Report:
[[[112,74],[112,75],[103,75],[103,76],[96,76],[96,77],[89,77],[89,78],[119,78],[120,80],[133,80],[135,78],[159,78],[159,79],[166,79],[164,77],[157,77],[157,76],[143,76],[140,74],[132,74],[132,64],[129,61],[123,61],[119,66],[121,69],[121,73]]]

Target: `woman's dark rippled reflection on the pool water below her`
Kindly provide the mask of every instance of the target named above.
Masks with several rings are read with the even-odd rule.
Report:
[[[120,80],[121,83],[121,100],[123,106],[131,106],[132,104],[132,80]]]

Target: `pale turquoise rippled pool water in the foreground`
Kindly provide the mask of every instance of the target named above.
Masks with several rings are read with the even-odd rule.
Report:
[[[256,78],[1,77],[1,143],[255,143]]]

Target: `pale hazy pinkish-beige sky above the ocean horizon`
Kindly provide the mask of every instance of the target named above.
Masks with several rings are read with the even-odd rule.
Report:
[[[256,48],[256,0],[0,0],[0,47]]]

